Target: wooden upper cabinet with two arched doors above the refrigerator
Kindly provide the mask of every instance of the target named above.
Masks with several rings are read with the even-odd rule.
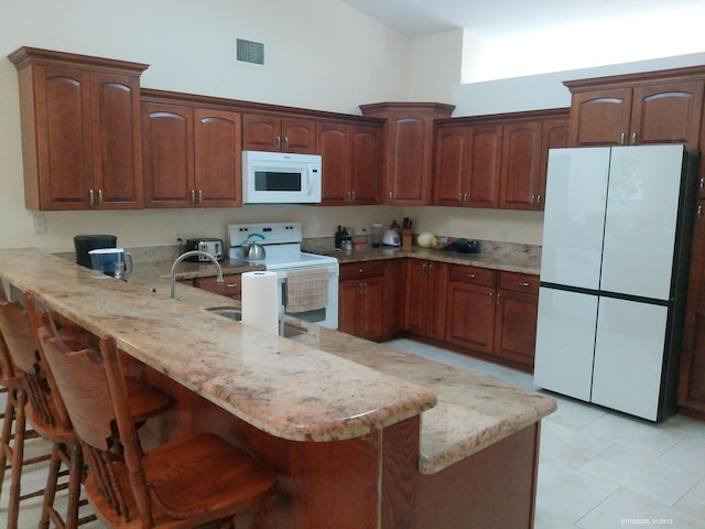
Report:
[[[570,144],[683,143],[697,149],[705,68],[564,83],[573,95]]]

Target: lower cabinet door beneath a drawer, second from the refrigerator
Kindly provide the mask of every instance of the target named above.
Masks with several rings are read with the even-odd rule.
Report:
[[[492,353],[495,336],[495,289],[448,282],[445,339],[462,347]]]

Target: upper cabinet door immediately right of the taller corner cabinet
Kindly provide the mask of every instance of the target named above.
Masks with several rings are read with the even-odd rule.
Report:
[[[435,142],[434,204],[460,206],[469,190],[464,181],[468,149],[467,127],[442,127]]]

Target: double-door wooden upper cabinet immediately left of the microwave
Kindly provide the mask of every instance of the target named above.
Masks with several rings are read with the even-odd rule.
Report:
[[[239,114],[144,101],[142,128],[148,207],[242,204]]]

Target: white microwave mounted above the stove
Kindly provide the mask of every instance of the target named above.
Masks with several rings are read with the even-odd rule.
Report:
[[[243,204],[316,204],[321,179],[318,154],[242,151]]]

